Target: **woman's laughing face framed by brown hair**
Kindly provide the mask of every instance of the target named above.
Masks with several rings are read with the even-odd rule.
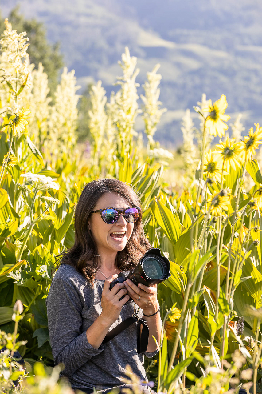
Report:
[[[100,197],[92,210],[102,208],[124,209],[129,206],[130,204],[124,197],[108,192]],[[101,218],[100,212],[91,214],[88,226],[99,254],[110,254],[123,250],[134,229],[134,223],[128,223],[122,214],[120,214],[116,223],[107,224]],[[116,232],[122,234],[114,234]]]

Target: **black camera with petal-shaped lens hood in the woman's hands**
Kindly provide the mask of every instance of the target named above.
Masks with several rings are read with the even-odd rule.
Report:
[[[138,285],[142,283],[145,286],[153,286],[153,284],[161,283],[171,276],[170,273],[170,262],[168,258],[161,255],[161,251],[158,248],[148,250],[144,256],[140,258],[137,266],[131,269],[127,277],[120,272],[118,277],[114,279],[110,284],[110,290],[117,283],[123,283],[127,279],[130,279],[133,283]],[[122,296],[120,299],[124,298]],[[126,303],[133,302],[129,297],[129,301]]]

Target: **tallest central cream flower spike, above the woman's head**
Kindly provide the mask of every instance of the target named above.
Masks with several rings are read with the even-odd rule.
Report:
[[[138,113],[138,95],[135,82],[139,69],[135,69],[137,58],[130,56],[129,49],[125,47],[125,53],[122,54],[122,63],[118,62],[123,70],[123,76],[118,77],[115,85],[120,85],[120,90],[114,94],[112,92],[110,103],[108,104],[109,114],[114,124],[117,126],[120,143],[124,151],[129,151],[129,145],[132,143],[132,137],[137,133],[134,130],[134,123]]]

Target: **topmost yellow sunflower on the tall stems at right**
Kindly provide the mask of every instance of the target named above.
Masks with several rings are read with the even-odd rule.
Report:
[[[220,99],[215,101],[214,104],[211,100],[208,101],[209,114],[206,120],[206,128],[209,130],[210,136],[225,136],[225,130],[228,129],[228,126],[224,122],[230,119],[229,115],[225,115],[226,108],[227,98],[225,95],[221,95]]]

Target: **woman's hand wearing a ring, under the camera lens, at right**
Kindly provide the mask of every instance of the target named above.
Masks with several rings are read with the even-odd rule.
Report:
[[[124,285],[127,289],[127,294],[146,314],[151,315],[158,310],[159,303],[157,300],[157,284],[148,287],[142,283],[138,283],[137,286],[135,283],[127,279],[127,281],[124,282]]]

